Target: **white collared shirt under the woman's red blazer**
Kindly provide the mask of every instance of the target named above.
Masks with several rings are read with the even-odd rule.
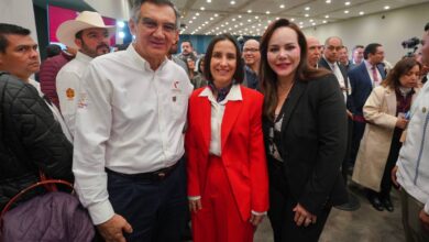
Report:
[[[199,97],[207,97],[211,103],[211,135],[210,135],[210,146],[209,146],[209,153],[221,156],[222,150],[221,150],[221,128],[222,128],[222,119],[224,113],[224,108],[227,106],[228,101],[241,101],[243,100],[241,96],[240,85],[233,85],[230,89],[230,92],[228,92],[227,97],[218,102],[213,96],[213,92],[210,88],[206,87],[199,94]]]

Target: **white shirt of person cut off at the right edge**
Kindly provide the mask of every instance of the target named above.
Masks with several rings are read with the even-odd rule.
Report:
[[[397,180],[429,215],[429,85],[425,84],[410,109],[411,118],[399,157]]]

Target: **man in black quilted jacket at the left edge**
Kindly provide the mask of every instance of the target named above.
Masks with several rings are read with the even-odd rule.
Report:
[[[0,23],[0,210],[40,182],[40,170],[51,178],[74,179],[73,146],[62,129],[61,114],[30,79],[38,67],[37,44],[30,30]],[[35,195],[30,193],[24,200]]]

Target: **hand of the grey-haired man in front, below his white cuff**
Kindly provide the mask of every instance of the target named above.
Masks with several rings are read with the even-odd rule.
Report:
[[[133,232],[131,224],[120,215],[114,215],[108,221],[98,224],[97,228],[106,242],[125,242],[123,232]]]

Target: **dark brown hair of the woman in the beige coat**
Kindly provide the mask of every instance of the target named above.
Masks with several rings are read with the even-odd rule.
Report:
[[[418,66],[419,70],[421,69],[421,64],[416,61],[414,57],[405,57],[400,59],[394,68],[388,72],[386,79],[382,82],[384,87],[389,87],[395,90],[400,87],[399,78],[406,75],[413,67]]]

